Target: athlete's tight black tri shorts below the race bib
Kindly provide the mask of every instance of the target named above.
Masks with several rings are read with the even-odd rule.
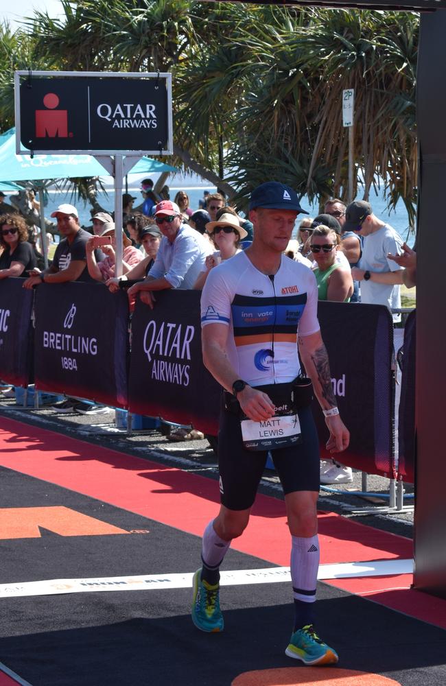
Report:
[[[223,397],[218,431],[220,498],[228,510],[248,510],[255,501],[268,451],[244,448],[239,418],[225,410]],[[319,440],[311,407],[298,410],[298,417],[302,442],[271,451],[285,495],[295,490],[318,492],[320,486]]]

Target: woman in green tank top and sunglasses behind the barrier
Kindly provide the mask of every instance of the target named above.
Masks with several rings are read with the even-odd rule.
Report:
[[[309,249],[317,263],[314,276],[318,283],[318,300],[348,303],[353,293],[353,279],[349,269],[336,261],[340,246],[339,234],[321,224],[313,230]]]

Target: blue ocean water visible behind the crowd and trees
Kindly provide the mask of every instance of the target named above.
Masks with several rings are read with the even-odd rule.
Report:
[[[132,178],[128,184],[128,192],[137,197],[137,200],[134,201],[135,207],[142,202],[139,181],[139,179],[136,180]],[[154,181],[156,181],[156,178],[154,178]],[[192,210],[198,209],[198,201],[203,197],[204,191],[209,191],[210,193],[215,193],[217,191],[215,186],[207,185],[206,180],[200,179],[196,176],[183,177],[179,174],[176,174],[169,179],[168,184],[171,200],[174,200],[178,191],[185,191],[189,196],[189,206]],[[361,197],[358,196],[356,199],[361,200]],[[115,191],[113,190],[113,187],[108,188],[106,193],[99,193],[98,200],[106,211],[112,212],[115,206]],[[91,225],[90,205],[84,204],[82,200],[78,202],[75,200],[73,201],[73,196],[71,196],[71,193],[67,193],[65,191],[49,191],[48,202],[45,206],[45,216],[49,218],[51,212],[53,212],[62,202],[70,202],[75,204],[78,208],[80,223],[83,226]],[[406,240],[408,244],[412,246],[414,244],[414,234],[409,233],[408,215],[403,202],[400,200],[397,204],[396,210],[390,213],[386,209],[386,200],[383,193],[378,195],[372,193],[370,202],[375,215],[395,228],[399,235],[401,235],[401,238]],[[301,205],[303,209],[310,213],[310,216],[314,217],[318,214],[318,206],[309,204],[305,201],[305,198],[303,198],[301,201]]]

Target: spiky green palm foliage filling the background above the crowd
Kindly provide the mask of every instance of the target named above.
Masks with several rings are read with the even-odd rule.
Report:
[[[345,196],[341,98],[355,88],[364,197],[381,178],[390,206],[403,198],[413,218],[418,15],[192,0],[62,7],[62,19],[36,12],[27,24],[35,63],[172,71],[174,163],[240,202],[268,178],[310,200]]]

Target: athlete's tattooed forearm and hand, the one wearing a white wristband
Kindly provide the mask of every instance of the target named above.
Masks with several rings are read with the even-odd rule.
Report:
[[[336,398],[334,397],[333,386],[331,385],[327,348],[325,348],[322,341],[320,331],[307,336],[299,335],[298,344],[305,372],[312,379],[314,392],[320,407],[322,407],[322,410],[336,407]],[[345,450],[349,445],[350,433],[339,414],[325,417],[325,423],[330,431],[327,450],[331,453]]]

